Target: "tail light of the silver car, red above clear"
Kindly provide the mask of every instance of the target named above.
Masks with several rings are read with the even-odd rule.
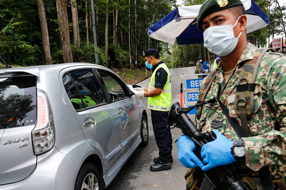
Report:
[[[37,90],[37,124],[32,131],[36,155],[50,150],[55,144],[55,127],[51,106],[45,93]]]

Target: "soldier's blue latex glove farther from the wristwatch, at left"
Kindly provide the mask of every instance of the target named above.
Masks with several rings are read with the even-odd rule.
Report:
[[[188,138],[188,136],[183,135],[178,138],[178,158],[179,161],[187,168],[197,168],[203,167],[204,163],[198,159],[198,157],[193,152],[196,148],[194,142]]]

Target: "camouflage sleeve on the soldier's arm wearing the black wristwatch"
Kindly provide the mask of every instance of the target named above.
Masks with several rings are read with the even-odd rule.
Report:
[[[273,57],[275,57],[274,60]],[[261,63],[263,61],[265,62],[265,66],[269,66],[265,70],[267,71],[265,76],[269,75],[268,78],[265,79],[267,80],[268,90],[265,95],[268,98],[268,103],[271,104],[274,110],[272,118],[278,122],[280,130],[274,130],[275,127],[273,126],[273,130],[262,135],[242,138],[245,144],[246,164],[253,171],[258,171],[265,165],[277,165],[280,166],[280,169],[285,170],[286,58],[285,56],[265,56]]]

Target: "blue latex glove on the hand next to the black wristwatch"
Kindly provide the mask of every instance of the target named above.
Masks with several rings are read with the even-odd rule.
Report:
[[[203,171],[220,165],[228,165],[236,161],[230,151],[233,141],[228,140],[218,130],[213,129],[212,131],[217,136],[217,139],[203,145],[200,151],[200,155],[206,164],[202,167]]]

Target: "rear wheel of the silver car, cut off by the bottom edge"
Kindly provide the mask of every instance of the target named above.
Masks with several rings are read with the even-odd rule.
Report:
[[[75,190],[102,190],[100,175],[93,164],[84,163],[76,177]]]

